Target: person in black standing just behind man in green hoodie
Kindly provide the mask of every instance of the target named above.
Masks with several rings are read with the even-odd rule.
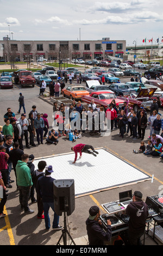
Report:
[[[9,156],[10,156],[10,161],[12,162],[12,167],[15,172],[15,177],[16,177],[16,164],[18,160],[22,160],[22,155],[24,154],[24,151],[20,149],[19,143],[15,142],[14,143],[14,149],[10,150]],[[16,187],[18,190],[18,185],[17,185],[17,177],[16,177]]]

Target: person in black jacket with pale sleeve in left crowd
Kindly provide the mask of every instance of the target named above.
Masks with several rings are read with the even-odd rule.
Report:
[[[15,120],[14,118],[11,120],[11,125],[13,126],[13,129],[14,129],[14,143],[18,141],[20,149],[23,150],[21,124],[17,121],[17,119]]]

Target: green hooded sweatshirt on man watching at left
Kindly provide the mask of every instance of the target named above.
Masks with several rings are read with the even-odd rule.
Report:
[[[18,186],[28,187],[33,185],[30,168],[27,166],[27,163],[20,160],[17,161],[16,176]]]

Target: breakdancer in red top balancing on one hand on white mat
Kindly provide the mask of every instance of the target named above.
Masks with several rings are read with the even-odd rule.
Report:
[[[92,149],[92,151],[90,151],[89,149]],[[92,154],[93,156],[97,156],[96,154],[98,154],[98,152],[95,151],[95,149],[91,145],[86,144],[77,144],[76,146],[72,147],[71,150],[75,153],[75,159],[73,163],[76,163],[78,153],[80,154],[79,158],[82,157],[82,153]]]

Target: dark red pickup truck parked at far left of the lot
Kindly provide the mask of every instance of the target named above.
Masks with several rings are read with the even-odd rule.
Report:
[[[16,74],[15,72],[14,81],[16,84],[20,83],[21,87],[24,86],[35,86],[35,78],[32,77],[32,71],[20,71]]]

